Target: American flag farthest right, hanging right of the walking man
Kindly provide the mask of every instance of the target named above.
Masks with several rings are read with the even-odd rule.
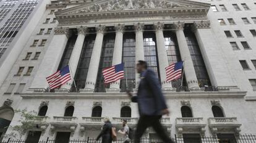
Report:
[[[165,68],[166,70],[166,82],[170,82],[181,78],[182,76],[183,62],[177,62],[169,65]]]

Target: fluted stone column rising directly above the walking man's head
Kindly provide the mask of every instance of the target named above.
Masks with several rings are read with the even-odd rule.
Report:
[[[138,60],[145,60],[144,58],[144,45],[143,45],[143,29],[144,29],[144,24],[143,23],[137,23],[134,25],[135,29],[135,63],[138,62]],[[135,65],[136,66],[136,65]],[[140,74],[135,71],[135,83],[136,83],[136,89],[139,86],[140,82]]]

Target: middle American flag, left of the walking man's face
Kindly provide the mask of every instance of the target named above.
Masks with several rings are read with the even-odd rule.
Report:
[[[105,83],[114,83],[124,78],[124,63],[105,68],[102,73]]]

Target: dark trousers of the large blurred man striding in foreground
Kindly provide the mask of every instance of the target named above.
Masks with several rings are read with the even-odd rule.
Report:
[[[140,116],[137,124],[137,129],[134,135],[134,143],[140,142],[140,137],[142,137],[145,130],[150,126],[153,127],[153,129],[156,131],[156,133],[163,140],[164,143],[173,143],[173,141],[171,140],[171,138],[168,136],[163,126],[161,125],[160,119],[161,119],[161,115]]]

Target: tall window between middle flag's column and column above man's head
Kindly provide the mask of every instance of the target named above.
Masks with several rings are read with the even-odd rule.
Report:
[[[124,79],[121,80],[121,92],[132,91],[135,88],[135,35],[134,33],[124,33],[122,46],[122,62],[126,68]],[[128,87],[126,87],[126,78]]]

